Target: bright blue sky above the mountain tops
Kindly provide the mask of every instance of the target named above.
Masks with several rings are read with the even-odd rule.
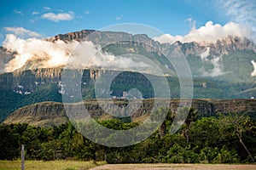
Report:
[[[255,3],[254,0],[2,0],[0,44],[8,33],[52,37],[121,23],[153,26],[166,34],[182,36],[189,33],[193,21],[196,28],[209,20],[221,26],[232,21],[255,31]]]

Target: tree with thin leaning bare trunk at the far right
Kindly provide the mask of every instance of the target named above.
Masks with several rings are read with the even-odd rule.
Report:
[[[220,133],[224,135],[236,136],[239,142],[245,150],[247,150],[248,156],[254,161],[252,154],[247,149],[242,139],[242,134],[249,131],[252,127],[250,126],[250,118],[245,115],[229,114],[227,116],[219,115],[218,126]]]

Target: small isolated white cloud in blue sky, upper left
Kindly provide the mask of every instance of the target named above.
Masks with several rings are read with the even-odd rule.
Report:
[[[72,11],[69,11],[68,13],[46,13],[42,15],[43,19],[59,22],[61,20],[73,20],[74,13]]]

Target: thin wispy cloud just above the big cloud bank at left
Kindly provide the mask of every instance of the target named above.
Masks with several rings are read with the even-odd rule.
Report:
[[[22,26],[20,27],[4,27],[5,31],[14,33],[16,36],[20,37],[41,37],[38,32],[26,30]]]

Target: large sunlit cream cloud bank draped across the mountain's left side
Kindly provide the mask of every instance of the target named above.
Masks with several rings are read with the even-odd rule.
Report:
[[[3,47],[15,52],[15,58],[5,65],[4,71],[15,71],[30,62],[33,68],[101,67],[110,69],[140,68],[149,65],[132,58],[103,53],[93,42],[49,42],[37,38],[22,39],[13,34],[7,35]],[[27,69],[27,68],[26,68]]]

